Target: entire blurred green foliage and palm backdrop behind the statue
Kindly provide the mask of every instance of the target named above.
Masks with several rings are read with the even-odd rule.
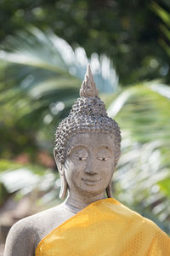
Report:
[[[1,207],[26,195],[36,211],[59,203],[54,131],[97,61],[122,129],[114,196],[170,233],[170,3],[6,0],[0,21]]]

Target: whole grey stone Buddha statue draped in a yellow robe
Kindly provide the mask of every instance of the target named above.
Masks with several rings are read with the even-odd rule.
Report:
[[[108,117],[88,66],[80,97],[55,134],[65,201],[14,224],[4,256],[170,255],[167,234],[112,198],[120,154],[120,128]]]

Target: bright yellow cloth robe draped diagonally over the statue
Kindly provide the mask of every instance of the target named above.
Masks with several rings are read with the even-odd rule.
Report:
[[[36,256],[170,256],[170,238],[115,199],[95,201],[39,242]]]

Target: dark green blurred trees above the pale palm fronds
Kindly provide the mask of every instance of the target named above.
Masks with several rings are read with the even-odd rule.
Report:
[[[51,27],[73,48],[81,45],[88,56],[110,56],[123,85],[157,78],[169,82],[169,60],[158,42],[163,37],[160,20],[151,3],[170,11],[167,0],[3,0],[0,38],[29,25]]]

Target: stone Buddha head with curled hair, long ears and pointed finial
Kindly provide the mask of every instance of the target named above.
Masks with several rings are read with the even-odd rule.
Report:
[[[54,159],[61,180],[59,197],[65,198],[71,186],[84,193],[103,189],[112,197],[111,177],[120,154],[120,128],[108,117],[88,65],[80,97],[55,133]]]

